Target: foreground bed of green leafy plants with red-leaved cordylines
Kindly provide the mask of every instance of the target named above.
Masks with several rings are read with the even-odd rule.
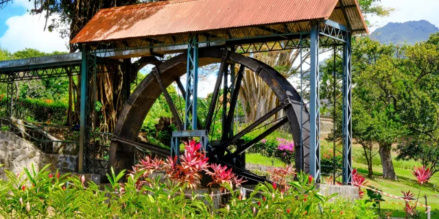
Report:
[[[145,157],[119,183],[124,172],[107,175],[104,190],[84,176],[51,175],[47,167],[20,175],[5,170],[9,180],[0,181],[2,218],[377,218],[368,203],[337,201],[318,193],[312,177],[299,173],[288,188],[261,183],[246,194],[237,188],[240,179],[225,166],[209,165],[199,144],[187,145],[181,164]],[[33,166],[32,166],[33,167]],[[166,172],[152,177],[157,170]],[[195,194],[200,171],[212,177],[212,185],[230,194],[224,207],[213,207],[215,194]],[[193,191],[190,193],[190,191]]]

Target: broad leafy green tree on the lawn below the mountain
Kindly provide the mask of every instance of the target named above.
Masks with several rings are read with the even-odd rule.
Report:
[[[434,37],[430,41],[433,42]],[[361,38],[355,44],[353,64],[353,95],[368,109],[361,114],[368,114],[373,121],[370,131],[372,140],[379,144],[383,176],[396,179],[392,144],[406,138],[399,144],[398,158],[410,159],[407,151],[434,151],[434,142],[439,139],[438,47],[429,42],[401,47],[381,45]],[[353,120],[359,116],[355,113],[354,110]],[[354,121],[354,133],[355,124]],[[424,160],[425,164],[435,164],[425,157],[429,156],[412,156]]]

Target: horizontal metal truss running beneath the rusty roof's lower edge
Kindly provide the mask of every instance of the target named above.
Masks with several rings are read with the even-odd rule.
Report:
[[[309,48],[309,41],[302,41],[303,35],[310,34],[311,21],[300,23],[286,23],[274,26],[247,27],[244,31],[229,29],[227,36],[216,36],[215,33],[200,33],[198,36],[199,47],[227,46],[235,47],[238,53],[257,53],[265,51],[280,51],[287,49]],[[293,31],[296,30],[296,31]],[[301,30],[301,31],[298,31]],[[348,29],[334,21],[326,20],[320,23],[320,47],[331,47],[345,42]],[[326,39],[328,38],[328,39]],[[329,40],[331,39],[331,40]],[[163,54],[180,53],[188,49],[193,40],[192,36],[185,34],[177,36],[160,36],[156,38],[141,38],[121,40],[116,42],[99,42],[93,45],[91,53],[97,57],[137,57],[139,54],[149,53],[157,57]]]

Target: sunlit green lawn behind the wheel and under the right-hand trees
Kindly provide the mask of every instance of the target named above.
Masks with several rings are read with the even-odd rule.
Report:
[[[326,142],[322,140],[320,142],[322,146],[322,153],[328,153],[330,149],[333,147],[332,142]],[[340,147],[341,150],[341,147]],[[392,152],[392,157],[396,157],[396,153]],[[272,159],[269,157],[264,157],[259,154],[248,154],[246,155],[246,162],[250,164],[263,164],[267,166],[272,166]],[[417,196],[419,191],[419,185],[416,181],[416,178],[412,175],[412,170],[414,166],[421,166],[419,162],[415,162],[414,160],[410,161],[396,161],[393,159],[393,164],[395,168],[396,176],[398,177],[398,181],[394,181],[391,179],[383,179],[383,169],[381,166],[381,161],[379,159],[379,155],[376,155],[372,159],[374,178],[369,179],[367,185],[374,186],[383,192],[393,194],[395,196],[402,196],[401,191],[410,190],[412,193]],[[275,160],[274,166],[283,166],[283,162],[280,160]],[[357,168],[358,172],[361,175],[367,175],[367,165],[366,159],[363,156],[363,149],[361,146],[355,144],[353,146],[353,167]],[[439,218],[439,174],[431,177],[428,183],[423,185],[422,190],[420,191],[419,202],[425,204],[424,195],[427,195],[427,204],[431,206],[431,218]],[[434,195],[438,196],[435,197]],[[383,196],[385,201],[390,201],[392,203],[402,203],[403,201],[390,198],[387,196]],[[389,211],[394,218],[405,218],[405,212],[403,211],[403,205],[395,205],[392,203],[381,203],[381,214],[385,214],[386,211]],[[418,211],[420,211],[420,218],[427,218],[427,215],[424,214],[425,208],[418,207]]]

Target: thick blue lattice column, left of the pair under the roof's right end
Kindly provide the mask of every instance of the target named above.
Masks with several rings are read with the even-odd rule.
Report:
[[[309,144],[309,174],[316,182],[320,182],[320,92],[319,92],[319,23],[311,23],[311,51],[310,51],[310,144]]]

